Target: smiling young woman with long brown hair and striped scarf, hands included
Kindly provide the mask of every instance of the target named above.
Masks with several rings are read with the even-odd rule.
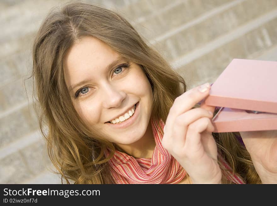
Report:
[[[67,183],[276,183],[276,131],[213,133],[184,79],[119,14],[51,10],[33,45],[40,129]],[[44,126],[48,131],[44,131]],[[257,137],[257,138],[256,138]]]

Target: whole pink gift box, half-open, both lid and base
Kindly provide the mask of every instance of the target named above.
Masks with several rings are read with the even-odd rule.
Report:
[[[277,130],[277,62],[233,59],[205,103],[221,107],[214,132]]]

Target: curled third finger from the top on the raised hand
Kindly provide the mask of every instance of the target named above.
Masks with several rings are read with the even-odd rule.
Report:
[[[185,145],[186,148],[194,149],[197,151],[198,147],[201,144],[201,132],[207,131],[207,132],[213,132],[214,126],[212,125],[212,122],[207,117],[202,117],[195,122],[189,124],[186,134],[186,141]]]

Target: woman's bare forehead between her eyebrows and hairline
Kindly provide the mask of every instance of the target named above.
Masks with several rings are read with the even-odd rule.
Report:
[[[68,50],[63,59],[65,81],[70,84],[72,79],[88,77],[92,70],[101,71],[119,57],[103,41],[90,36],[83,37]]]

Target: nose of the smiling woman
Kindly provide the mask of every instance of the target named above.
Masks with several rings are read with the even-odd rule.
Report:
[[[123,99],[126,98],[126,93],[122,89],[111,84],[105,84],[102,88],[104,108],[119,107]]]

